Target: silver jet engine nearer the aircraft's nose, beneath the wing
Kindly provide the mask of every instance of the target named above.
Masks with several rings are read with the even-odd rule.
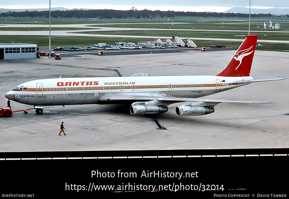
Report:
[[[168,108],[164,106],[145,106],[134,104],[130,106],[130,113],[132,115],[159,114],[166,111],[168,111]]]

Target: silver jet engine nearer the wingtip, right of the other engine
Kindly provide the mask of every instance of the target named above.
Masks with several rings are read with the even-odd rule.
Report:
[[[201,116],[214,113],[214,111],[214,108],[208,106],[194,107],[182,105],[176,107],[176,114],[178,116]]]

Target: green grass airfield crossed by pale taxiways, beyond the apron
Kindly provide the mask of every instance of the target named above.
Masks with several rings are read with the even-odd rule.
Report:
[[[263,29],[264,22],[268,25],[269,21],[280,24],[280,29]],[[37,21],[37,22],[36,22]],[[248,34],[247,18],[197,18],[197,17],[175,17],[170,18],[153,18],[153,19],[51,19],[52,25],[61,24],[95,24],[91,28],[96,27],[119,27],[119,28],[151,28],[165,30],[118,30],[118,31],[89,31],[80,32],[85,34],[112,34],[112,35],[128,35],[128,36],[160,36],[171,38],[172,36],[188,37],[188,38],[228,38],[242,39],[244,37],[234,35]],[[116,24],[128,23],[128,24]],[[141,24],[136,24],[141,23]],[[146,24],[155,23],[155,24]],[[162,24],[168,23],[168,24]],[[176,24],[181,23],[181,24]],[[1,27],[1,24],[49,24],[48,18],[0,18],[0,31],[47,31],[46,27]],[[52,27],[52,31],[57,30],[84,30],[87,28],[77,27]],[[172,30],[177,29],[177,30]],[[184,30],[189,29],[192,31]],[[217,30],[217,31],[195,31],[198,30]],[[222,31],[218,31],[222,30]],[[232,31],[233,30],[233,31]],[[236,30],[236,31],[234,31]],[[259,35],[260,40],[289,40],[289,19],[287,18],[253,18],[251,19],[251,34]],[[239,31],[239,32],[238,32]],[[266,31],[266,32],[264,32]],[[286,32],[288,31],[288,32]],[[266,36],[265,36],[266,35]],[[133,42],[150,41],[153,39],[147,38],[120,38],[112,37],[77,37],[77,36],[52,36],[52,47],[77,46],[85,47],[95,43],[114,44],[114,42]],[[25,42],[35,43],[40,48],[48,47],[48,36],[1,36],[1,43],[9,42]],[[208,47],[212,44],[222,44],[227,47],[238,47],[241,42],[229,41],[205,41],[195,40],[198,47]],[[288,44],[263,43],[262,47],[257,47],[259,50],[277,50],[287,51]]]

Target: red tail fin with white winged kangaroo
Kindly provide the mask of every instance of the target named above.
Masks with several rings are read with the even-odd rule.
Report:
[[[228,66],[216,76],[250,76],[258,35],[247,35]]]

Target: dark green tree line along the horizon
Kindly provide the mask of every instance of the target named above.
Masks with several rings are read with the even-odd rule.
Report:
[[[51,11],[52,18],[174,18],[175,16],[186,17],[228,17],[228,18],[249,18],[249,14],[243,13],[218,13],[218,12],[179,12],[160,10],[55,10]],[[25,11],[25,12],[2,12],[0,17],[25,17],[42,18],[49,17],[49,11]],[[273,17],[272,14],[251,14],[252,18]],[[282,17],[282,16],[281,16]],[[285,15],[283,17],[289,17]]]

